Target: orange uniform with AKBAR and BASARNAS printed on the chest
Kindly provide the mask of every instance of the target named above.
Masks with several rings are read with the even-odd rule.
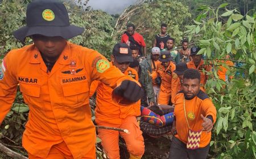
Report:
[[[73,158],[95,154],[96,130],[91,120],[89,87],[100,80],[113,89],[127,78],[100,53],[67,43],[51,72],[35,45],[10,51],[0,80],[0,124],[9,112],[19,84],[30,107],[22,144],[28,153],[46,158],[64,143]],[[91,158],[95,158],[92,156]]]

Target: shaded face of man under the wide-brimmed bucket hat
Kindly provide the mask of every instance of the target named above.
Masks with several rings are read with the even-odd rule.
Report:
[[[48,60],[57,60],[67,44],[67,40],[60,36],[32,35],[36,48]]]

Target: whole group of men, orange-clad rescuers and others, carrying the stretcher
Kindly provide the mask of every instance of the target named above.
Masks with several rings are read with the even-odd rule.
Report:
[[[162,24],[147,55],[143,36],[129,23],[109,62],[97,51],[67,41],[84,28],[69,23],[63,3],[33,1],[26,15],[27,26],[14,36],[20,41],[31,37],[34,43],[3,58],[0,124],[19,85],[30,107],[22,140],[28,158],[96,158],[89,107],[94,93],[96,124],[130,132],[97,129],[110,159],[120,158],[119,136],[130,158],[142,158],[142,133],[172,134],[169,158],[207,158],[216,108],[205,93],[212,68],[197,55],[199,47],[189,49],[183,40],[182,48],[175,49],[175,39]]]

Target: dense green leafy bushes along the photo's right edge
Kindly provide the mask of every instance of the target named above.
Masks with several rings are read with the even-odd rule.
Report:
[[[204,7],[198,21],[186,26],[185,33],[190,40],[201,46],[199,53],[208,59],[241,61],[240,69],[229,69],[229,76],[235,76],[229,83],[218,79],[217,70],[224,60],[212,62],[214,71],[207,82],[208,94],[218,110],[218,119],[213,131],[211,154],[217,158],[255,158],[256,157],[256,20],[239,11],[227,10],[218,15],[217,10]],[[204,16],[205,15],[205,16]],[[209,18],[210,16],[210,18]],[[228,19],[222,22],[221,19]],[[225,89],[223,88],[225,85]],[[245,153],[246,152],[246,153]]]

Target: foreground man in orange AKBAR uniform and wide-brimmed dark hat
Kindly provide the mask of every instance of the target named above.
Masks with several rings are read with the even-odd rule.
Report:
[[[69,24],[63,3],[33,1],[27,7],[27,26],[14,32],[16,39],[30,36],[34,44],[10,51],[2,61],[0,124],[19,85],[30,108],[22,139],[29,158],[96,158],[89,107],[92,81],[112,87],[113,100],[123,106],[141,98],[137,81],[97,51],[67,41],[83,31]]]

